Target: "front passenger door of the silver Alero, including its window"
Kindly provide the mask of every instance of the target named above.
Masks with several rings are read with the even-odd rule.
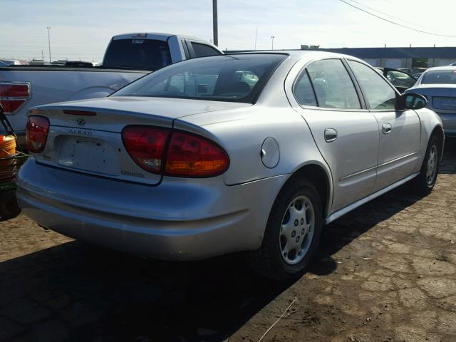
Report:
[[[373,68],[348,60],[368,109],[378,120],[380,142],[374,191],[411,175],[418,162],[420,119],[414,110],[395,110],[398,93]]]

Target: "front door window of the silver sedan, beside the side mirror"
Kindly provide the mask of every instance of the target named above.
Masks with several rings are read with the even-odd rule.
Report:
[[[395,109],[396,93],[376,71],[359,62],[348,61],[348,64],[364,90],[369,108]]]

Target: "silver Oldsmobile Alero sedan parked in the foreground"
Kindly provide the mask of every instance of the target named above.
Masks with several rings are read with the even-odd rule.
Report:
[[[432,190],[444,136],[425,103],[350,56],[196,58],[32,109],[18,197],[69,237],[160,259],[244,251],[289,279],[324,224],[408,181]]]

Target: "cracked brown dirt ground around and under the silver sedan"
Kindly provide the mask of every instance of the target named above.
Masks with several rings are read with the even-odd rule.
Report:
[[[456,341],[456,142],[434,192],[406,187],[330,224],[294,284],[242,256],[167,263],[0,223],[1,341]]]

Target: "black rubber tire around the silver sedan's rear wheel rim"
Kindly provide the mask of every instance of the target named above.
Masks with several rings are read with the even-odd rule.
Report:
[[[289,264],[289,262],[285,261],[286,257],[284,257],[284,254],[286,253],[283,253],[282,249],[283,234],[281,233],[281,229],[286,219],[287,212],[288,217],[290,217],[289,210],[294,209],[294,207],[289,207],[289,205],[294,203],[294,199],[299,200],[300,198],[305,198],[305,200],[309,199],[311,202],[311,207],[313,207],[314,211],[314,227],[309,228],[309,232],[306,234],[304,234],[304,230],[302,231],[303,235],[301,235],[301,237],[303,238],[301,244],[304,244],[306,237],[309,237],[309,241],[306,241],[306,253],[304,254],[303,252],[303,254],[299,256],[299,258],[302,259],[296,264]],[[309,220],[306,212],[304,213],[304,217],[304,225],[307,226]],[[258,274],[269,279],[289,281],[298,278],[304,273],[312,257],[314,257],[321,236],[322,222],[323,214],[321,199],[314,185],[311,185],[309,181],[303,178],[291,178],[286,182],[274,201],[266,224],[261,247],[258,250],[247,254],[250,266],[254,271],[257,271]],[[302,222],[299,223],[302,225]],[[296,226],[296,219],[294,220],[293,225]],[[289,227],[292,227],[293,225],[290,225]],[[296,227],[297,234],[301,234],[301,225]],[[291,229],[294,228],[292,227]],[[311,229],[312,234],[310,234]],[[296,232],[294,233],[295,235],[291,235],[290,239],[294,240],[296,237],[296,242],[298,242],[299,237],[296,235]],[[291,243],[294,244],[294,241],[291,241]],[[299,260],[299,258],[296,260]]]

